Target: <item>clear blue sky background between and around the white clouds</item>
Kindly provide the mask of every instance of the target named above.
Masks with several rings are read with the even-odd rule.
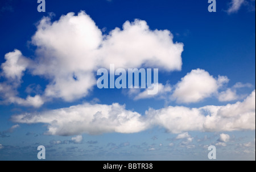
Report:
[[[171,31],[174,35],[174,42],[177,41],[184,44],[184,51],[182,54],[183,66],[181,71],[160,71],[160,83],[165,84],[168,80],[171,85],[174,85],[188,72],[191,72],[191,70],[202,68],[214,77],[217,77],[218,75],[228,76],[230,79],[228,87],[232,87],[238,82],[252,84],[253,87],[240,90],[241,94],[248,95],[255,89],[255,1],[248,0],[247,5],[242,5],[240,10],[234,14],[227,14],[226,12],[229,3],[230,1],[228,0],[217,0],[217,12],[210,13],[208,12],[209,3],[207,0],[46,0],[46,12],[38,12],[37,7],[39,4],[36,3],[36,1],[1,0],[0,63],[4,63],[5,54],[14,49],[22,51],[22,54],[25,57],[31,59],[35,58],[36,47],[32,45],[30,41],[31,37],[36,32],[36,23],[40,21],[43,16],[54,14],[52,16],[52,21],[54,21],[59,20],[61,15],[65,15],[68,12],[75,12],[77,14],[80,10],[84,10],[86,14],[90,15],[90,18],[95,21],[98,28],[105,29],[105,34],[108,34],[115,27],[122,28],[125,21],[134,21],[134,19],[147,21],[151,30],[167,29]],[[26,74],[27,75],[24,75],[23,77],[21,87],[18,88],[19,96],[23,98],[26,98],[27,96],[27,94],[24,93],[24,90],[31,83],[40,84],[42,88],[45,88],[47,85],[46,79],[40,78],[39,76],[31,76],[28,71],[26,71]],[[0,78],[0,81],[4,80],[5,79]],[[144,114],[144,111],[147,110],[148,107],[160,109],[166,106],[164,100],[146,99],[134,101],[125,96],[125,94],[122,93],[122,90],[99,90],[94,87],[93,92],[89,94],[88,97],[81,98],[74,102],[65,102],[56,99],[53,102],[46,102],[46,104],[39,109],[24,108],[13,104],[0,104],[0,131],[3,132],[15,124],[10,121],[11,115],[27,111],[66,108],[71,105],[81,104],[82,102],[92,101],[95,97],[100,100],[101,104],[110,105],[113,102],[118,102],[121,105],[126,104],[127,109],[138,111],[138,113],[141,114]],[[234,102],[236,101],[230,103]],[[197,104],[181,105],[197,108],[209,104],[226,105],[226,102],[218,102],[214,98],[207,98],[206,101],[198,102]],[[176,104],[175,102],[168,102],[168,105],[175,106]],[[122,149],[122,151],[113,151],[112,153],[110,151],[109,154],[105,153],[102,159],[108,159],[108,157],[110,157],[110,159],[118,159],[127,156],[128,159],[130,158],[132,160],[143,160],[143,158],[147,157],[148,159],[166,158],[168,160],[173,160],[175,159],[176,153],[176,155],[179,155],[178,159],[186,160],[192,158],[192,154],[197,151],[201,153],[204,152],[200,151],[201,149],[196,149],[197,151],[189,150],[188,154],[190,155],[187,156],[186,150],[177,147],[171,151],[173,154],[170,157],[168,154],[164,154],[164,150],[162,149],[158,152],[158,156],[157,153],[147,154],[147,152],[143,151],[139,151],[139,156],[134,153],[136,152],[134,151],[136,149],[134,148],[135,146],[131,147],[132,145],[139,145],[142,143],[146,143],[145,145],[159,145],[160,143],[167,144],[167,142],[170,142],[168,141],[170,138],[174,140],[176,135],[166,133],[163,128],[151,129],[150,131],[129,135],[85,135],[84,138],[86,138],[87,142],[90,140],[97,142],[95,147],[89,147],[91,144],[84,141],[84,144],[82,145],[62,144],[60,145],[60,148],[56,148],[55,145],[49,144],[49,141],[67,140],[70,138],[63,136],[46,136],[43,135],[45,130],[46,127],[44,127],[44,124],[20,124],[17,131],[9,134],[10,137],[0,137],[0,144],[4,145],[6,149],[13,149],[14,152],[26,154],[26,156],[24,156],[25,159],[32,160],[35,158],[33,153],[36,153],[36,151],[33,150],[37,144],[48,144],[48,149],[52,150],[50,153],[52,159],[56,159],[57,157],[68,159],[72,154],[73,147],[73,149],[76,150],[86,149],[86,155],[92,156],[93,160],[100,160],[100,154],[104,154],[103,152],[110,148],[110,146],[106,146],[109,143],[114,143],[116,146],[119,145],[119,148]],[[28,133],[31,133],[31,135]],[[151,139],[155,135],[158,136],[158,140],[156,141]],[[191,135],[195,138],[203,138],[204,135],[208,135],[208,137],[216,141],[219,133],[202,134],[201,132],[191,132]],[[255,138],[255,131],[246,131],[244,135],[241,134],[241,132],[232,132],[229,135],[236,136],[237,140],[241,137],[246,137],[245,141],[250,141],[250,137],[253,137],[253,135]],[[127,141],[129,141],[130,147],[123,148],[120,143],[125,143]],[[159,143],[157,141],[159,141]],[[237,143],[239,143],[239,141],[237,141]],[[197,145],[199,144],[200,143],[197,143]],[[210,144],[210,141],[205,144]],[[24,149],[23,147],[26,147],[27,149]],[[226,155],[225,158],[232,157],[232,151],[229,150],[234,149],[235,147],[236,145],[232,145],[227,148],[229,154]],[[58,151],[58,149],[61,151]],[[28,151],[26,152],[24,150]],[[89,159],[88,156],[81,155],[77,152],[75,151],[75,153],[73,153],[75,156],[74,159]],[[134,154],[129,154],[127,152],[133,152]],[[162,157],[159,156],[161,153],[164,154]],[[225,154],[226,152],[223,151],[222,153]],[[8,154],[8,151],[0,148],[0,160],[19,160],[23,157],[15,157],[15,154],[6,156],[6,154]],[[138,156],[138,158],[135,158],[136,156]],[[197,158],[201,159],[202,157],[204,156],[199,156]],[[246,156],[240,154],[240,158],[246,158]]]

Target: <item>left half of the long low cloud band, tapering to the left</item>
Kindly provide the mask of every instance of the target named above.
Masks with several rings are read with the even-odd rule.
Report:
[[[102,134],[106,132],[133,133],[148,126],[143,117],[125,106],[83,104],[39,114],[13,116],[19,123],[47,123],[49,135]]]

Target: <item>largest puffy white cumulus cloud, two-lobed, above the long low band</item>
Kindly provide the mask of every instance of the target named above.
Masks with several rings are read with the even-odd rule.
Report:
[[[142,20],[126,21],[123,29],[102,35],[84,11],[77,16],[70,12],[54,22],[43,18],[32,37],[38,47],[32,73],[50,80],[46,96],[73,101],[88,94],[96,84],[95,71],[109,68],[110,63],[122,68],[146,65],[180,70],[183,44],[172,39],[170,31],[151,31]]]

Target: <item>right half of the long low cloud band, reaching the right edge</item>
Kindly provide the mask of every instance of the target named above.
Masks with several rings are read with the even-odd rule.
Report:
[[[173,133],[255,130],[255,91],[236,104],[202,108],[169,106],[159,110],[149,109],[146,116],[151,124]]]

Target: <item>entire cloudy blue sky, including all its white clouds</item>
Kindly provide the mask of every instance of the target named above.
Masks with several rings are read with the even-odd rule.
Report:
[[[216,2],[1,1],[0,160],[255,160],[255,1]],[[98,89],[110,63],[158,94]]]

